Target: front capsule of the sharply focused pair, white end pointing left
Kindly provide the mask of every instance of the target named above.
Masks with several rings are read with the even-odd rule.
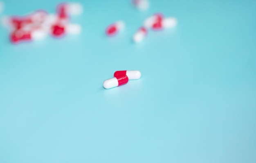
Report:
[[[119,87],[120,85],[125,85],[126,83],[128,83],[128,80],[128,76],[126,75],[115,76],[114,78],[105,80],[103,83],[103,87],[105,89]]]

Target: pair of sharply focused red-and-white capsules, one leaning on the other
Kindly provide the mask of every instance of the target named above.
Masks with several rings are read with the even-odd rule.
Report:
[[[104,81],[103,87],[105,89],[119,87],[121,85],[127,84],[129,80],[137,80],[140,77],[141,77],[141,73],[137,70],[116,71],[114,73],[114,78],[110,78],[110,79]]]

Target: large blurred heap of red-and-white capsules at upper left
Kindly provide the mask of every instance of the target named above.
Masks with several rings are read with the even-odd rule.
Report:
[[[72,15],[80,15],[83,7],[79,3],[62,3],[55,14],[37,10],[25,16],[6,16],[2,24],[10,29],[10,41],[20,43],[45,38],[63,37],[66,34],[79,34],[81,26],[70,23]]]

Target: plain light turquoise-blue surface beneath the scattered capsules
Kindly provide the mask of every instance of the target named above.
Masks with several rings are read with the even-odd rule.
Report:
[[[5,0],[2,15],[59,2]],[[256,162],[256,1],[150,2],[81,1],[83,33],[63,39],[12,45],[0,28],[0,163]],[[155,12],[178,26],[132,43]],[[116,70],[142,77],[103,89]]]

